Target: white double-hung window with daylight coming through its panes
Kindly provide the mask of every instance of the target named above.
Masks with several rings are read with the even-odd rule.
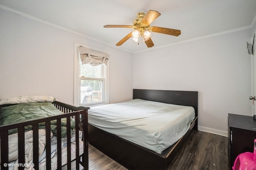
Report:
[[[75,44],[75,89],[74,89],[74,104],[78,105],[99,105],[108,103],[108,81],[106,64],[92,64],[93,55],[89,55],[90,63],[84,62],[80,57],[81,47],[89,50],[82,45]],[[86,51],[87,53],[88,51]],[[90,53],[90,52],[89,52]],[[102,53],[102,52],[100,52]],[[81,55],[82,56],[82,55]],[[85,55],[88,57],[88,54]],[[88,57],[88,58],[89,58]],[[89,59],[88,59],[89,60]],[[86,64],[83,64],[83,63]],[[96,66],[93,66],[96,65]]]

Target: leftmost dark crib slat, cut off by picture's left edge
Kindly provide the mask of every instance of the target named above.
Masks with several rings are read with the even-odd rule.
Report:
[[[1,155],[5,155],[5,156],[1,156],[1,170],[8,170],[8,166],[4,166],[6,164],[8,164],[8,131],[2,131],[1,132],[1,136],[0,136],[0,140],[1,140]]]

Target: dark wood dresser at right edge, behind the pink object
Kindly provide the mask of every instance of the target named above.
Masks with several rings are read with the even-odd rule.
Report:
[[[232,169],[236,157],[253,152],[256,139],[256,120],[252,116],[228,113],[228,161]]]

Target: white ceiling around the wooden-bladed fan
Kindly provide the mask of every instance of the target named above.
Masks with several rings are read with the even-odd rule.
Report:
[[[154,47],[150,49],[251,27],[256,18],[256,0],[0,0],[0,8],[17,10],[113,47],[132,29],[104,25],[132,25],[138,12],[156,10],[161,16],[150,25],[180,29],[181,35],[152,33]],[[132,39],[117,48],[131,53],[149,49]]]

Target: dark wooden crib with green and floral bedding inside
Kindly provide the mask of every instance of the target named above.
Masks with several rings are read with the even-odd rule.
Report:
[[[0,100],[0,169],[88,169],[88,109],[52,96]]]

